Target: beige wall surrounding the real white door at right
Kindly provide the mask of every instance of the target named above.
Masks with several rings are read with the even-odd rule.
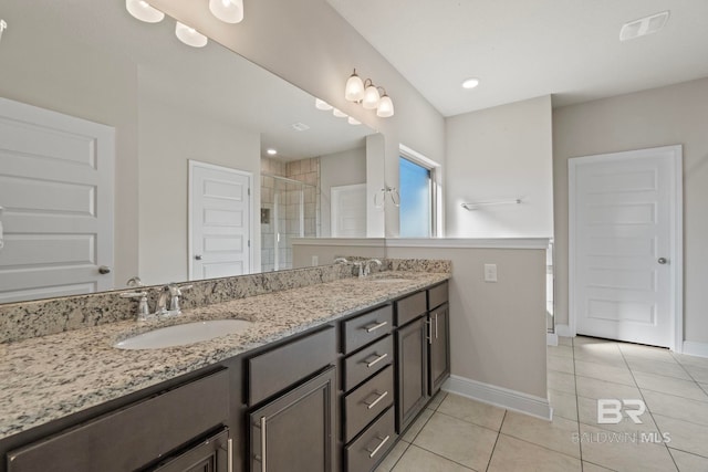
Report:
[[[568,158],[684,146],[684,332],[708,343],[708,78],[553,113],[556,323],[568,324]]]

